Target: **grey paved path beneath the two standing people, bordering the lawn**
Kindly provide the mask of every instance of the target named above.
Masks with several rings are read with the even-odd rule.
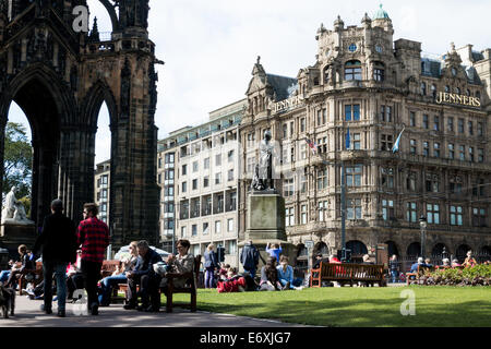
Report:
[[[58,317],[57,303],[53,302],[53,314],[46,315],[40,311],[43,301],[34,301],[25,296],[15,299],[15,316],[8,320],[0,317],[0,327],[296,327],[302,325],[287,324],[277,321],[258,320],[209,312],[191,313],[189,310],[175,308],[173,313],[144,313],[124,310],[122,304],[99,308],[99,315],[77,316],[67,304],[67,317]]]

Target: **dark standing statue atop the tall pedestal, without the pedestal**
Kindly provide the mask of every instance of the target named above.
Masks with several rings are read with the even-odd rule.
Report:
[[[264,132],[264,140],[260,144],[260,161],[255,165],[251,188],[256,191],[274,190],[273,151],[271,132]]]

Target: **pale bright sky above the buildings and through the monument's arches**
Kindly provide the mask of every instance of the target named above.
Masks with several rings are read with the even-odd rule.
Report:
[[[100,32],[110,32],[109,16],[98,0],[88,0]],[[383,8],[394,25],[394,39],[422,43],[424,52],[442,55],[450,44],[491,47],[488,23],[491,1],[386,0]],[[256,57],[268,73],[297,76],[315,63],[315,33],[321,23],[331,29],[339,14],[345,25],[360,25],[373,16],[372,0],[151,0],[149,37],[157,65],[158,137],[207,119],[207,113],[241,98]],[[92,23],[92,22],[91,22]],[[105,109],[105,108],[103,108]],[[25,120],[11,109],[9,119]],[[107,111],[100,113],[96,163],[109,158]]]

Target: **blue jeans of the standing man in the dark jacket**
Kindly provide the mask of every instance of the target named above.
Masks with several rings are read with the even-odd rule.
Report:
[[[44,292],[45,292],[45,309],[51,309],[52,302],[52,274],[57,281],[57,297],[58,310],[64,310],[67,301],[67,265],[63,262],[43,262],[43,277],[44,277]]]

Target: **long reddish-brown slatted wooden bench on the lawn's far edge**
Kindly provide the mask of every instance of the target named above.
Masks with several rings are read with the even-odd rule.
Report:
[[[352,286],[358,282],[386,286],[383,264],[324,263],[312,269],[310,287],[321,287],[322,281],[337,281]]]

